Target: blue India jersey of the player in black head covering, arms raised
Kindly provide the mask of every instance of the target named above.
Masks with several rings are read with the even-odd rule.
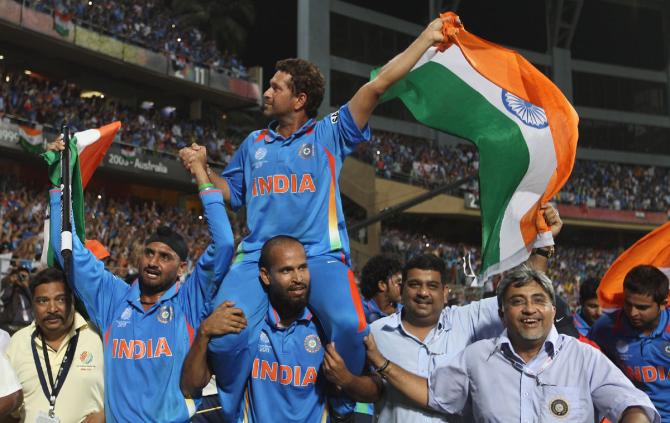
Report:
[[[51,242],[60,257],[60,190],[51,190]],[[186,422],[197,404],[179,388],[195,331],[233,255],[233,233],[218,190],[200,194],[212,244],[195,270],[147,311],[139,282],[126,284],[105,270],[75,236],[72,289],[103,335],[105,415],[110,422]],[[74,231],[73,231],[74,232]]]

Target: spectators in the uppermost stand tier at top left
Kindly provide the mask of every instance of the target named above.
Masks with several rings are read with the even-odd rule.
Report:
[[[81,0],[19,1],[39,12],[58,11],[77,24],[167,55],[175,65],[196,64],[246,79],[246,67],[199,29],[184,25],[160,1],[130,0],[91,2]]]

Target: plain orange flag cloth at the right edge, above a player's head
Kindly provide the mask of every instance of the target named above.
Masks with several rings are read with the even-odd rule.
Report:
[[[640,264],[656,266],[670,278],[670,222],[649,232],[612,263],[598,286],[598,301],[603,308],[623,307],[623,280]]]

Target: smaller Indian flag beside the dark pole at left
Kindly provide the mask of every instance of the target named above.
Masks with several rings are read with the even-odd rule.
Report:
[[[112,122],[98,129],[88,129],[77,132],[70,138],[70,166],[72,168],[72,214],[76,224],[77,236],[82,243],[85,242],[84,229],[84,188],[91,180],[95,169],[102,162],[109,146],[114,141],[116,133],[121,127],[121,122]],[[49,180],[54,186],[60,186],[60,153],[47,151],[42,158],[49,165]],[[49,229],[45,223],[44,245],[48,245],[47,256],[42,256],[42,261],[53,266],[55,264],[51,243],[49,242]]]

